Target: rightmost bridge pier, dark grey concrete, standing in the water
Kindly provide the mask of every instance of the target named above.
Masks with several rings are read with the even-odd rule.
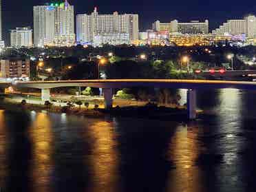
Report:
[[[188,118],[193,120],[196,118],[196,93],[195,89],[189,89],[186,92],[186,107]]]

